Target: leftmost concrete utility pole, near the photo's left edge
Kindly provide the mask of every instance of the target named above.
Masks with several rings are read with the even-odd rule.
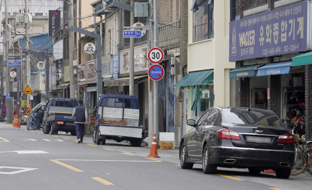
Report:
[[[9,32],[8,32],[8,2],[7,0],[4,1],[4,6],[5,6],[5,26],[4,26],[4,31],[5,31],[5,43],[4,43],[4,60],[8,60],[8,54],[9,54],[9,44],[8,44],[8,37],[9,37]],[[6,92],[10,92],[11,89],[11,82],[10,82],[10,69],[9,67],[6,67]],[[3,96],[2,96],[3,97]],[[1,98],[2,98],[1,97]],[[7,117],[7,123],[12,123],[12,115],[13,115],[13,105],[12,105],[12,100],[11,99],[6,99],[5,100],[5,105],[6,105],[6,117]]]

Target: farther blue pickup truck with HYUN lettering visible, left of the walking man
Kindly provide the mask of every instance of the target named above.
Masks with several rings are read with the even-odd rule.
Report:
[[[76,135],[75,121],[72,119],[78,101],[71,98],[51,98],[44,111],[42,131],[44,134],[58,134],[59,131]]]

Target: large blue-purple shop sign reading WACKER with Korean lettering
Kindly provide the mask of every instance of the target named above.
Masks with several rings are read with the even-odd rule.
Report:
[[[229,60],[308,49],[308,1],[230,22]]]

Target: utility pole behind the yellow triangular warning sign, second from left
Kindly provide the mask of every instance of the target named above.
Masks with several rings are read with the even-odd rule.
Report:
[[[24,14],[28,13],[28,0],[25,0],[25,11]],[[29,49],[29,23],[25,21],[25,45],[26,51]],[[30,85],[30,65],[29,65],[29,53],[26,52],[26,84]],[[46,93],[49,93],[46,92]],[[29,112],[31,112],[31,99],[30,95],[27,95],[27,107],[29,108]],[[46,100],[48,101],[48,100]],[[29,123],[29,122],[28,122]]]

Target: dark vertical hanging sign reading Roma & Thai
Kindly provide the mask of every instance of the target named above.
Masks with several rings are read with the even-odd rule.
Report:
[[[60,11],[49,10],[49,37],[60,36]]]

